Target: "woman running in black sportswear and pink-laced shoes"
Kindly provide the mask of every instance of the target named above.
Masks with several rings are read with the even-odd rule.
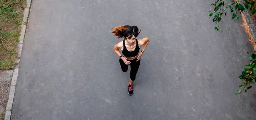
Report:
[[[137,26],[118,26],[112,29],[112,33],[114,33],[114,36],[117,36],[117,39],[124,38],[123,41],[114,46],[114,51],[119,56],[119,63],[123,72],[128,70],[128,65],[131,65],[128,94],[133,95],[133,82],[140,66],[140,58],[148,46],[149,39],[147,37],[140,40],[136,39],[140,34]],[[141,46],[143,48],[139,54]],[[119,49],[121,49],[123,54],[119,52]]]

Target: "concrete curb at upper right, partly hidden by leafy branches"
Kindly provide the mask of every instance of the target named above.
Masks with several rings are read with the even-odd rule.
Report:
[[[239,0],[239,3],[240,3],[240,4],[242,4],[243,2],[244,2],[243,0]],[[254,41],[255,41],[255,40],[256,40],[256,29],[255,29],[255,27],[254,27],[253,21],[251,20],[250,14],[248,13],[247,9],[245,9],[245,10],[243,11],[243,13],[244,13],[244,17],[245,17],[245,19],[246,19],[246,21],[247,21],[247,23],[248,23],[248,26],[249,26],[249,28],[250,28],[251,34],[252,34],[252,36],[253,36],[253,39],[254,39]],[[256,41],[255,41],[255,42],[256,42]]]

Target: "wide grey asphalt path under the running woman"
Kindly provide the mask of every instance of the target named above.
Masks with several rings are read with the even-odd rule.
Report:
[[[212,0],[33,0],[12,120],[253,120],[255,94],[235,96],[252,47],[242,21],[223,33]],[[150,42],[128,96],[111,27]]]

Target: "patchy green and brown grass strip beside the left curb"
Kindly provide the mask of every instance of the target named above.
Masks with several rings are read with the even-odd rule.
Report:
[[[26,0],[0,0],[0,69],[14,68]]]

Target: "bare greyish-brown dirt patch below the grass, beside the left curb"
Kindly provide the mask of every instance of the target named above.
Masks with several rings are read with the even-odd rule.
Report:
[[[0,70],[0,120],[3,120],[11,87],[13,70]]]

